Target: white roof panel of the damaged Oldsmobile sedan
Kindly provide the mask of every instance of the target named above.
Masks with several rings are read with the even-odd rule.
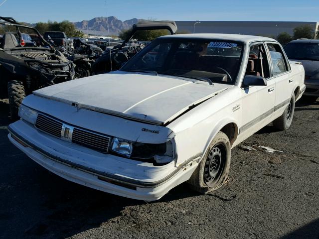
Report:
[[[241,35],[241,34],[222,34],[222,33],[196,33],[196,34],[177,34],[177,35],[167,35],[161,36],[161,38],[211,38],[211,39],[223,39],[230,41],[242,41],[247,44],[254,41],[274,41],[273,38],[263,37],[263,36],[251,36],[251,35]]]

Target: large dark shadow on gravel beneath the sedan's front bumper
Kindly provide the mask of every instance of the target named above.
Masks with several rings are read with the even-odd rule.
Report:
[[[181,184],[155,202],[124,198],[69,182],[26,156],[22,157],[29,166],[20,165],[24,170],[18,172],[15,180],[30,186],[13,186],[11,192],[2,195],[2,200],[9,202],[10,210],[0,206],[0,211],[4,212],[0,214],[1,226],[4,230],[9,228],[15,231],[7,231],[5,239],[68,238],[123,216],[123,210],[127,207],[199,195],[190,189],[185,190],[187,184]],[[13,197],[19,199],[12,200]],[[19,214],[12,215],[12,211],[19,211]]]

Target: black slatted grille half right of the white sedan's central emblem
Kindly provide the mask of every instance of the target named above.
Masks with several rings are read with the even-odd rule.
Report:
[[[72,142],[92,148],[101,153],[107,153],[109,149],[110,137],[103,134],[74,128],[72,133]]]

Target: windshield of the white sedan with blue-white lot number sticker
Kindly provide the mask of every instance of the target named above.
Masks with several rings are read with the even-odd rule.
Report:
[[[234,84],[242,52],[241,42],[158,38],[128,61],[121,70]]]

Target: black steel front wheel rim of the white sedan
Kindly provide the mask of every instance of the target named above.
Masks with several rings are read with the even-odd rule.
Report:
[[[204,168],[204,181],[207,186],[219,180],[225,166],[226,149],[223,144],[216,144],[210,150]]]

